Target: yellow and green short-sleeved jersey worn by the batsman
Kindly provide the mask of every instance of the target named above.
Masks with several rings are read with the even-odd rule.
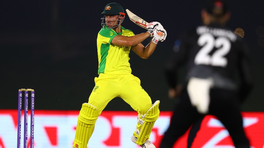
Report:
[[[116,35],[134,36],[135,34],[121,26],[122,32],[116,33],[106,26],[101,28],[97,36],[98,74],[131,73],[129,53],[131,47],[111,44]]]

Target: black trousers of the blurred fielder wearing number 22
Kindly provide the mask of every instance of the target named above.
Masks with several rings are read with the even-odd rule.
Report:
[[[199,114],[190,103],[187,90],[184,89],[175,104],[171,124],[160,143],[160,148],[172,148],[191,125],[201,120],[204,114]],[[209,114],[217,117],[228,130],[236,148],[250,148],[240,113],[240,103],[235,91],[225,89],[210,90]]]

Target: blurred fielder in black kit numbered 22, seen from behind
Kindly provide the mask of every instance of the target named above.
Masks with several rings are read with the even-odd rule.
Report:
[[[225,27],[230,17],[226,3],[207,1],[201,15],[203,24],[183,36],[165,67],[170,88],[177,88],[179,67],[186,66],[187,75],[160,148],[172,148],[193,124],[199,128],[207,114],[222,122],[236,148],[250,148],[239,107],[253,86],[249,48]]]

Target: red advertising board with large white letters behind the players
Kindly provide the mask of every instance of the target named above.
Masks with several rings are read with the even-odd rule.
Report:
[[[70,148],[75,136],[78,114],[79,111],[35,110],[34,147]],[[172,112],[161,111],[159,119],[155,122],[150,140],[157,148],[169,125],[171,114]],[[251,147],[264,148],[264,113],[243,112],[242,114]],[[88,148],[140,148],[130,140],[135,130],[136,119],[135,111],[103,111],[97,119]],[[0,110],[0,121],[0,148],[16,147],[17,110]],[[174,148],[186,148],[187,134],[188,132],[175,143]],[[21,138],[23,141],[23,137]],[[206,116],[192,148],[233,147],[232,140],[221,122],[213,116]]]

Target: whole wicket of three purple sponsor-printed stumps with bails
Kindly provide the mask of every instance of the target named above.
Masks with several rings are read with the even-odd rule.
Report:
[[[31,92],[31,124],[30,124],[30,148],[34,148],[34,106],[35,106],[35,91],[34,89],[21,88],[18,90],[18,116],[17,116],[17,148],[21,148],[21,118],[22,118],[22,92],[24,95],[24,148],[28,147],[28,92]]]

